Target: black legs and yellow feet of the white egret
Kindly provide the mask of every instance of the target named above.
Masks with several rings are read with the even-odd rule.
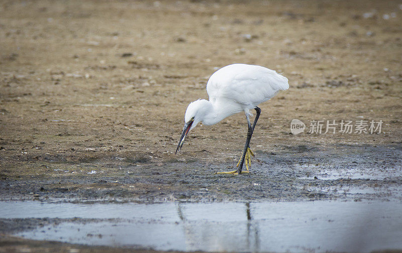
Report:
[[[247,139],[246,139],[246,145],[244,146],[244,151],[243,151],[242,157],[240,158],[239,162],[236,165],[236,167],[238,167],[238,169],[235,171],[217,172],[217,174],[240,174],[240,173],[242,173],[244,161],[246,161],[247,170],[243,171],[243,173],[250,172],[249,167],[251,168],[251,156],[254,157],[254,153],[250,149],[250,140],[251,140],[251,136],[253,135],[258,117],[260,116],[260,113],[261,113],[261,109],[259,107],[255,107],[254,109],[256,110],[257,114],[255,115],[253,125],[251,125],[251,123],[250,123],[250,118],[248,116],[248,113],[246,114],[246,119],[247,119],[247,124],[248,124]]]

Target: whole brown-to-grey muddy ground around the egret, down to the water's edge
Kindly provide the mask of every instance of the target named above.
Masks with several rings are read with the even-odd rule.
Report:
[[[0,199],[400,198],[329,189],[402,182],[401,4],[2,1]],[[174,151],[187,104],[232,63],[281,72],[290,88],[260,105],[252,173],[221,176],[241,155],[242,113],[197,126]],[[292,135],[293,118],[383,123]],[[376,177],[388,169],[391,179]],[[346,172],[321,180],[326,171]]]

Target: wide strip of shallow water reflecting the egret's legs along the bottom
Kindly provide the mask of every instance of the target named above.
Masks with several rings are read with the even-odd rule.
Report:
[[[0,218],[58,218],[15,233],[157,250],[370,252],[402,248],[402,202],[1,202]],[[79,219],[72,219],[79,217]]]

